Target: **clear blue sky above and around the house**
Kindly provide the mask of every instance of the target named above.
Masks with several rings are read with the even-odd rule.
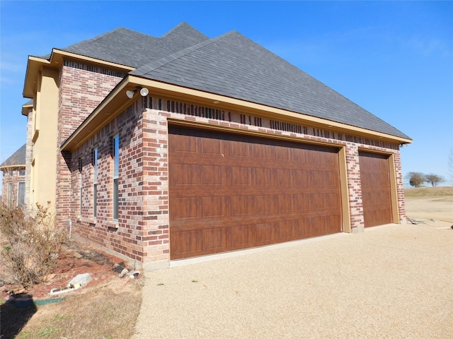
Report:
[[[0,11],[0,162],[25,143],[28,55],[118,27],[160,37],[185,21],[208,37],[239,31],[406,133],[403,174],[449,178],[453,1],[1,0]]]

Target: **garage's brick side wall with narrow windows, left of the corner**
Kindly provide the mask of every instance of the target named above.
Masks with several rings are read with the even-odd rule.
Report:
[[[101,246],[143,261],[149,207],[144,191],[142,109],[136,103],[110,121],[71,156],[71,220],[74,231]],[[119,213],[113,220],[113,137],[120,136]],[[93,149],[98,148],[97,213],[93,216]],[[81,195],[80,195],[81,188]],[[81,213],[80,213],[81,212]]]

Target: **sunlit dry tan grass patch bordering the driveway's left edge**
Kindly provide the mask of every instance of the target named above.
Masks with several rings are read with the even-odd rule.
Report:
[[[104,287],[37,307],[15,338],[131,338],[142,297],[130,283],[120,291]]]

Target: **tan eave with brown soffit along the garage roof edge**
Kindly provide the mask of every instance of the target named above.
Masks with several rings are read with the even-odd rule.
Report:
[[[105,124],[108,124],[124,109],[132,104],[134,99],[139,97],[138,94],[134,98],[129,99],[125,95],[126,90],[134,90],[137,86],[149,89],[151,95],[161,97],[172,97],[176,100],[186,102],[197,102],[197,104],[207,105],[210,107],[219,107],[219,109],[233,110],[236,112],[248,112],[250,114],[259,114],[261,117],[269,117],[271,119],[280,119],[282,121],[309,124],[310,126],[319,126],[333,131],[353,133],[358,136],[374,138],[390,143],[406,144],[412,143],[410,138],[402,138],[400,136],[392,136],[387,133],[371,131],[340,122],[312,117],[308,114],[291,112],[285,109],[269,107],[255,102],[226,97],[215,93],[207,93],[202,90],[193,88],[185,88],[171,83],[163,83],[154,81],[149,78],[140,76],[128,75],[105,97],[96,109],[88,116],[88,118],[79,126],[76,131],[66,140],[61,146],[61,150],[73,151],[78,148],[84,141],[93,136]],[[108,119],[105,119],[108,117]]]

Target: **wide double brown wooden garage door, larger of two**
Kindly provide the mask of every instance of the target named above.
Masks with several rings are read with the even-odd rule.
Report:
[[[338,149],[171,126],[172,259],[340,232]]]

